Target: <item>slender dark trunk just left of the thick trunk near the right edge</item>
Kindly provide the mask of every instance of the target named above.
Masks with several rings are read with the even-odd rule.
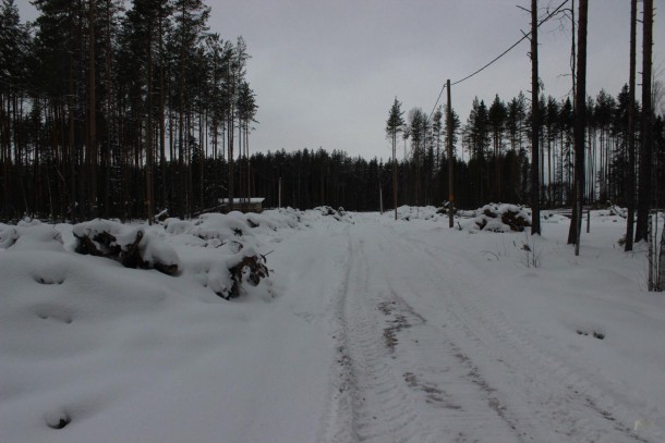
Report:
[[[638,0],[630,0],[630,72],[628,75],[628,183],[626,186],[628,217],[625,250],[632,250],[634,235],[634,77]]]

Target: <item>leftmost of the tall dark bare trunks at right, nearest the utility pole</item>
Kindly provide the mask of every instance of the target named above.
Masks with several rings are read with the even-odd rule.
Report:
[[[531,0],[531,235],[541,234],[537,0]]]

